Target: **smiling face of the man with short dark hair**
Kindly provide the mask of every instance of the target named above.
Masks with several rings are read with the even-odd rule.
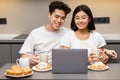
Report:
[[[52,14],[49,14],[50,24],[54,30],[59,30],[64,24],[66,14],[63,10],[55,9]]]

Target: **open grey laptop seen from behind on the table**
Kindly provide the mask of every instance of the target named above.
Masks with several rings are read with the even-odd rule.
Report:
[[[87,49],[52,49],[53,74],[87,74]]]

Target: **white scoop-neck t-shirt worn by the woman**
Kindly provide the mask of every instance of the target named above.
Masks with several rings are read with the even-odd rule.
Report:
[[[92,49],[105,46],[106,42],[102,35],[95,31],[91,31],[89,38],[86,40],[80,40],[76,37],[74,31],[68,31],[64,35],[60,45],[71,49],[88,49],[89,54]]]

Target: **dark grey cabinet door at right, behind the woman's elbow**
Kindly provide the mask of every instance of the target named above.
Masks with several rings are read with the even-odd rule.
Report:
[[[115,50],[117,52],[117,60],[110,60],[110,62],[120,62],[120,44],[107,44],[105,48]]]

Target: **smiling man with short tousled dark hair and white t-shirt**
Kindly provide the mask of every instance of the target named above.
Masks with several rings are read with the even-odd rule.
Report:
[[[34,29],[26,38],[19,53],[21,57],[28,57],[31,64],[39,63],[40,53],[48,54],[48,63],[51,63],[51,50],[59,48],[59,43],[69,29],[62,27],[71,8],[61,2],[53,1],[49,5],[47,25]]]

